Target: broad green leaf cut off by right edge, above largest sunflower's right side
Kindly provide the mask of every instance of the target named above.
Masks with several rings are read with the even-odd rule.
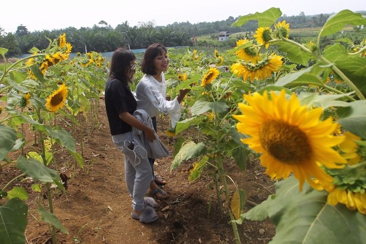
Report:
[[[353,134],[366,138],[366,101],[349,102],[349,107],[337,109],[338,123]]]

